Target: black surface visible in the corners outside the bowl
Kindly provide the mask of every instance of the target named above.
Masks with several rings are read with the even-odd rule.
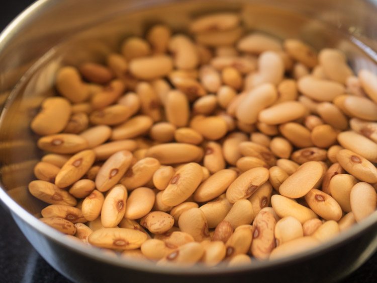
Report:
[[[8,4],[5,4],[5,1],[1,2],[0,30],[3,30],[20,12],[33,3],[30,0],[13,0],[7,2]],[[374,283],[376,281],[377,253],[341,283]],[[8,212],[0,205],[0,283],[19,282],[70,283],[71,281],[55,271],[39,256]]]

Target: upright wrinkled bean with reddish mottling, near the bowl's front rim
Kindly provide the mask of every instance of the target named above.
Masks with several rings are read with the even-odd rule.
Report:
[[[274,229],[276,220],[267,211],[260,211],[253,222],[253,240],[251,254],[257,259],[266,259],[275,247]]]

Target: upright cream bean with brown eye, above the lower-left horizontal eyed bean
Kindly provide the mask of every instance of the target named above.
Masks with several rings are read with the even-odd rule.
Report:
[[[114,186],[106,194],[101,209],[101,223],[104,228],[116,227],[126,211],[127,190],[122,185]]]

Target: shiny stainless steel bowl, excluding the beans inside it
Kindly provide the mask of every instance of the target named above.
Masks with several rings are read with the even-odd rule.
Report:
[[[0,197],[25,236],[54,268],[75,282],[217,282],[337,280],[377,249],[377,213],[336,239],[302,254],[229,269],[166,268],[119,259],[69,240],[33,215],[45,205],[27,189],[40,158],[29,124],[43,98],[54,94],[62,64],[102,61],[130,34],[162,22],[184,31],[190,17],[237,11],[250,30],[297,37],[315,48],[342,49],[351,66],[376,72],[377,9],[350,0],[40,0],[0,35]]]

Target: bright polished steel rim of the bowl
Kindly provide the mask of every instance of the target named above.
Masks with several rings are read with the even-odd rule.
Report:
[[[198,0],[196,0],[198,1]],[[178,0],[158,0],[152,2],[151,0],[146,0],[148,4],[152,3],[153,6],[166,4],[166,3],[177,3]],[[372,4],[371,0],[367,0],[369,4]],[[21,14],[19,14],[0,34],[0,53],[2,52],[4,46],[7,45],[7,42],[12,39],[14,33],[17,33],[17,30],[21,28],[25,22],[32,20],[37,14],[47,10],[50,6],[53,6],[53,0],[38,0],[31,4],[27,9],[25,9]],[[373,4],[372,4],[373,5]],[[37,65],[38,62],[34,65]],[[34,66],[33,65],[33,66]],[[20,81],[21,82],[21,81]],[[20,87],[21,83],[18,83],[17,87]],[[15,90],[14,89],[14,90]],[[6,116],[8,105],[12,103],[14,98],[18,95],[17,91],[12,91],[10,96],[8,97],[5,107],[2,110],[0,115],[0,124],[3,123],[4,116]],[[276,267],[281,267],[288,264],[294,264],[304,258],[313,258],[319,256],[320,254],[329,252],[333,249],[336,249],[339,246],[345,245],[347,242],[351,241],[353,238],[359,236],[360,233],[367,230],[368,228],[372,227],[377,223],[377,211],[374,211],[372,215],[370,215],[367,219],[364,219],[361,223],[357,223],[353,225],[352,228],[343,231],[340,233],[339,236],[327,241],[326,243],[322,243],[319,246],[306,250],[304,252],[300,252],[291,256],[282,257],[278,259],[272,260],[262,260],[262,261],[253,261],[251,265],[241,265],[241,266],[233,266],[227,268],[208,268],[205,266],[193,266],[190,268],[187,267],[180,267],[174,266],[157,266],[154,263],[143,262],[143,261],[136,261],[134,259],[128,258],[120,258],[110,256],[104,252],[102,252],[99,248],[91,247],[85,245],[83,243],[79,243],[73,239],[68,239],[63,234],[58,232],[57,230],[51,228],[50,226],[42,223],[32,214],[30,214],[27,210],[25,210],[20,204],[18,204],[3,188],[4,184],[2,180],[0,180],[0,200],[5,204],[7,208],[11,211],[12,216],[15,218],[18,217],[21,219],[26,225],[30,226],[34,230],[37,230],[41,233],[45,238],[49,239],[50,241],[63,246],[72,252],[79,253],[82,256],[90,257],[93,260],[97,260],[100,262],[104,262],[107,264],[115,265],[118,267],[124,268],[132,268],[139,271],[151,272],[151,273],[163,273],[169,275],[213,275],[213,274],[232,274],[234,272],[252,272],[252,271],[261,271],[264,269],[270,269]],[[88,248],[89,247],[89,248]]]

